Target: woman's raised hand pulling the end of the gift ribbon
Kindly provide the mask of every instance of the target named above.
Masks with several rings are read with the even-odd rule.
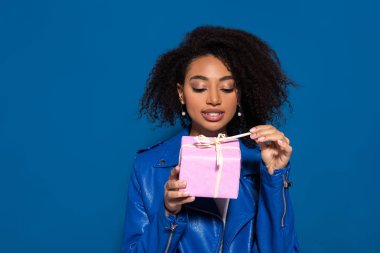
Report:
[[[289,139],[272,125],[255,126],[249,130],[251,139],[260,145],[261,159],[273,175],[275,169],[284,168],[292,154]]]

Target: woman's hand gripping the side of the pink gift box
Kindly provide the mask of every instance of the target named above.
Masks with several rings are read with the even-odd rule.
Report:
[[[189,195],[187,191],[179,191],[186,188],[186,181],[178,180],[179,166],[176,166],[170,172],[169,180],[166,182],[165,188],[165,209],[166,216],[169,214],[178,214],[181,211],[182,205],[195,200],[195,197]]]

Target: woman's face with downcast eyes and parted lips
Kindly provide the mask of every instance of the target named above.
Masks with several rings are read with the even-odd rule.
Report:
[[[192,119],[190,135],[217,136],[233,118],[238,96],[231,72],[218,58],[206,55],[189,65],[184,85],[178,85],[180,100]]]

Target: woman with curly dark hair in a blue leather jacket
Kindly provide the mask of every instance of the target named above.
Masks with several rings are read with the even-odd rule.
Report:
[[[138,152],[128,192],[125,252],[298,252],[288,196],[289,139],[282,116],[292,82],[256,36],[199,27],[162,55],[141,113],[184,129]],[[241,140],[237,199],[195,198],[178,180],[181,137],[250,132]]]

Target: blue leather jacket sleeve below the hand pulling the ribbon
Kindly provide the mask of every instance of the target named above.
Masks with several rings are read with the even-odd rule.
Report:
[[[287,187],[290,165],[268,173],[260,164],[260,189],[253,252],[295,253],[299,246]]]

